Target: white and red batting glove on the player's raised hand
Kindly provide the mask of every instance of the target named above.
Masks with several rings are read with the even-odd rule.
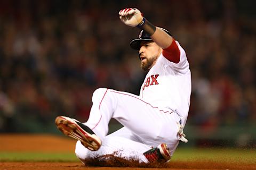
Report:
[[[131,27],[136,27],[143,20],[143,16],[137,8],[125,8],[119,11],[119,18]]]

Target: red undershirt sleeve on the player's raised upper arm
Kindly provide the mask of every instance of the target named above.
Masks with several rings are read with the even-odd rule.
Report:
[[[174,38],[172,39],[173,39],[172,44],[169,47],[163,49],[163,56],[167,60],[177,64],[180,62],[180,49],[176,44],[175,39]]]

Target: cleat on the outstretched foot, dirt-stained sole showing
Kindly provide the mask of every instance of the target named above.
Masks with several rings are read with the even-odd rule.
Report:
[[[65,117],[58,116],[55,119],[57,128],[65,135],[81,141],[81,143],[89,150],[96,151],[101,146],[101,140],[95,133],[81,122]]]

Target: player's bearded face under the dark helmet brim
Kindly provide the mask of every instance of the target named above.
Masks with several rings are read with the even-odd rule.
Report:
[[[144,41],[140,47],[140,60],[141,69],[148,71],[156,63],[157,58],[160,56],[162,48],[160,48],[153,41]]]

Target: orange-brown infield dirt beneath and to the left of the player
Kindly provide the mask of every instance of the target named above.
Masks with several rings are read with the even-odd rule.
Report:
[[[65,137],[56,137],[53,135],[31,135],[31,134],[0,134],[1,152],[73,152],[75,149],[75,140]],[[127,167],[122,167],[127,165]],[[112,167],[111,167],[112,166]],[[115,167],[113,167],[115,166]],[[121,167],[118,167],[121,166]],[[178,162],[172,161],[169,164],[158,165],[137,165],[124,162],[120,159],[111,159],[110,162],[97,162],[89,160],[87,165],[77,162],[0,162],[0,169],[256,169],[255,163],[237,163],[237,162]]]

